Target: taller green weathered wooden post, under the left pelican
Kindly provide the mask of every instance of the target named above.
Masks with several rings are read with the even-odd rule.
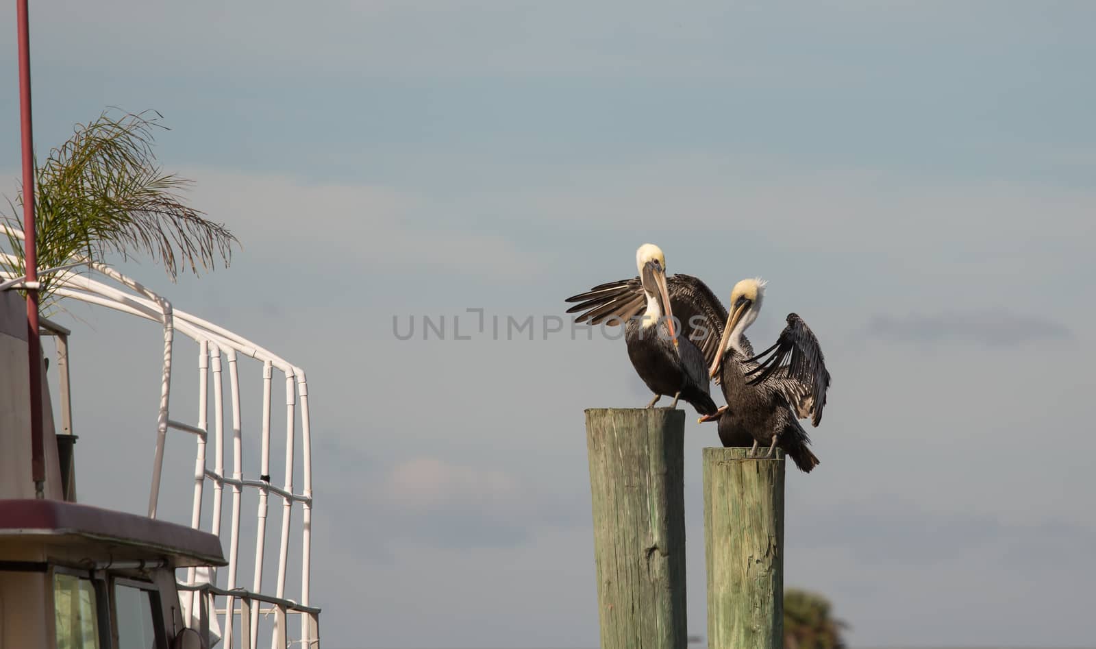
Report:
[[[684,410],[586,410],[602,649],[685,649],[684,437]]]

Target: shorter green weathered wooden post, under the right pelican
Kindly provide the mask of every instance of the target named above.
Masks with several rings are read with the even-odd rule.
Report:
[[[704,449],[708,649],[784,647],[784,453],[749,451]]]

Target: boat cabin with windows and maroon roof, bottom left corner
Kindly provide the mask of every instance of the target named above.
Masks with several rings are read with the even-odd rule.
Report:
[[[216,536],[183,525],[0,500],[0,649],[201,647],[183,624],[174,570],[225,565]]]

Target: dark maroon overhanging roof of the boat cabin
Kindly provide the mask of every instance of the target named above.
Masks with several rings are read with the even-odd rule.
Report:
[[[219,538],[176,523],[58,500],[0,500],[0,542],[31,538],[79,546],[88,558],[101,555],[103,560],[167,558],[173,567],[227,565]]]

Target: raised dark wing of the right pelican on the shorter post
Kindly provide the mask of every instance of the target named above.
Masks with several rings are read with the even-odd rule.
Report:
[[[766,355],[768,357],[762,360]],[[788,314],[788,324],[776,344],[746,363],[757,363],[746,373],[747,376],[756,375],[750,385],[768,382],[784,394],[800,418],[810,418],[815,426],[822,421],[830,372],[825,368],[818,339],[802,318]]]

